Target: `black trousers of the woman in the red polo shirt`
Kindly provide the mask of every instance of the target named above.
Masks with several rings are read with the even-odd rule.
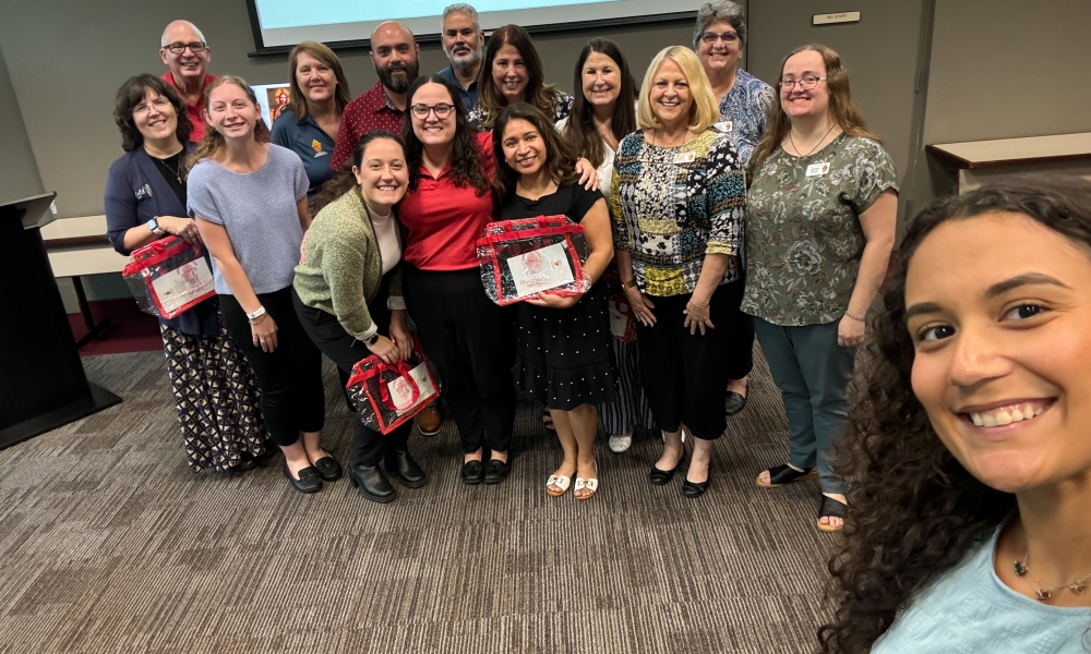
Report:
[[[515,427],[515,313],[489,300],[477,268],[432,271],[403,264],[401,279],[463,451],[507,451]]]

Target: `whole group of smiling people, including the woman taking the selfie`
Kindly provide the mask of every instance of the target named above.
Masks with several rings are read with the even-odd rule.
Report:
[[[880,641],[872,651],[921,652],[924,632],[940,651],[955,637],[928,632],[927,620],[954,611],[954,597],[959,610],[978,602],[993,615],[1006,603],[1039,619],[1020,613],[1027,597],[982,594],[994,549],[998,571],[999,553],[1016,560],[1000,571],[1003,591],[1053,605],[1056,642],[1087,626],[1091,574],[1059,586],[1040,579],[1091,567],[1086,521],[1067,520],[1091,493],[1091,447],[1076,435],[1078,398],[1057,407],[1066,378],[1045,370],[1067,362],[1036,363],[1039,341],[1024,336],[1039,324],[1045,334],[1051,313],[1079,324],[1091,298],[1078,290],[1091,277],[1075,269],[1089,265],[1086,184],[979,192],[914,222],[850,427],[848,387],[887,275],[898,186],[838,55],[803,46],[770,86],[739,68],[746,23],[718,0],[698,11],[692,48],[661,50],[639,86],[615,44],[590,40],[568,96],[546,82],[521,27],[485,40],[467,4],[442,20],[447,69],[420,76],[412,34],[383,23],[371,37],[379,82],[356,99],[337,57],[300,44],[290,106],[269,134],[244,81],[205,72],[208,45],[184,21],[163,35],[163,78],[140,75],[119,90],[125,155],[107,182],[109,238],[129,253],[176,234],[213,263],[217,299],[160,325],[194,470],[251,467],[272,439],[301,492],[347,474],[386,502],[392,479],[424,485],[411,423],[384,436],[357,421],[347,472],[322,446],[322,354],[344,383],[361,359],[406,359],[419,339],[461,439],[466,484],[508,475],[518,388],[544,404],[562,445],[550,495],[597,493],[601,423],[613,451],[637,427],[662,433],[656,485],[683,467],[688,437],[682,493],[699,497],[714,441],[745,407],[756,336],[789,425],[788,459],[757,485],[817,476],[815,524],[839,531],[851,469],[835,450],[848,432],[866,455],[861,504],[831,565],[842,602],[820,632],[826,651]],[[491,221],[541,215],[583,226],[590,290],[502,307],[482,287],[476,240]],[[1015,264],[999,249],[1024,232],[1076,254],[1020,264],[1027,270],[1008,279],[1000,272]],[[964,257],[969,244],[981,252]],[[979,270],[986,262],[998,269]],[[1066,262],[1072,270],[1044,271]],[[1071,296],[1051,291],[1060,288]],[[1034,302],[998,300],[1031,291]],[[973,335],[964,342],[955,336],[963,329]],[[1033,379],[1022,391],[990,390],[1016,374],[1016,360],[1038,376],[1024,375]],[[1047,422],[1072,432],[1067,449],[1022,463],[1047,445],[1016,431]],[[997,425],[1004,435],[988,432]],[[437,407],[419,427],[437,431]],[[957,593],[936,590],[952,584]],[[907,611],[911,597],[920,602]],[[992,627],[1027,633],[1018,620]]]

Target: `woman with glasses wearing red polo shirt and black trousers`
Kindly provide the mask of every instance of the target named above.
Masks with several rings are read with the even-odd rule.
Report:
[[[473,132],[457,98],[439,75],[419,77],[407,93],[403,290],[463,439],[463,482],[497,484],[511,471],[514,326],[478,271],[476,241],[496,213],[491,135]]]

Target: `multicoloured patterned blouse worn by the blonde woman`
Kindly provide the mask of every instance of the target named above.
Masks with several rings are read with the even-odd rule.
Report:
[[[715,128],[676,147],[651,145],[643,130],[618,145],[614,249],[632,255],[636,286],[649,295],[692,293],[706,254],[729,255],[720,283],[738,280],[745,204],[739,155]]]

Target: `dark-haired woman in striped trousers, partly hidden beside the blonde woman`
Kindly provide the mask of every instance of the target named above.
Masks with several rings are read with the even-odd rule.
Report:
[[[595,166],[602,180],[602,195],[610,203],[614,157],[621,140],[636,130],[636,83],[628,62],[618,45],[604,38],[591,39],[576,60],[573,87],[579,89],[568,118],[556,129],[575,148],[575,154]],[[621,298],[618,266],[613,262],[602,275],[608,296]],[[627,304],[627,302],[626,302]],[[599,404],[599,420],[609,434],[607,444],[613,452],[623,452],[633,444],[637,425],[655,427],[648,400],[640,388],[639,358],[635,340],[611,338],[618,372],[618,398]]]

